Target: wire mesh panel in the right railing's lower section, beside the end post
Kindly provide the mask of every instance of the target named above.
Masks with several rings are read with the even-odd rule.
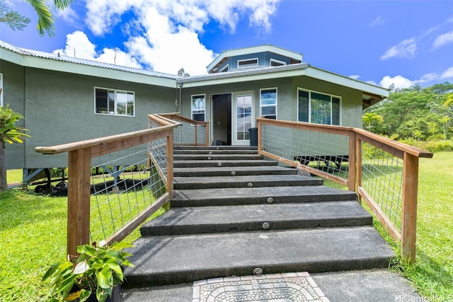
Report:
[[[401,230],[403,160],[362,142],[362,187],[389,221]]]

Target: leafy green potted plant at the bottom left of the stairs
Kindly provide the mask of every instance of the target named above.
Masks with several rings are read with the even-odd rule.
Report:
[[[120,294],[119,286],[124,280],[122,265],[134,267],[127,260],[132,256],[128,252],[122,252],[123,248],[131,248],[130,243],[113,243],[108,246],[101,243],[93,245],[79,245],[78,256],[68,255],[67,261],[52,265],[42,281],[47,279],[52,284],[49,293],[50,301],[87,301],[88,298],[104,302],[112,296],[116,286],[117,294]],[[88,300],[89,301],[89,300]]]

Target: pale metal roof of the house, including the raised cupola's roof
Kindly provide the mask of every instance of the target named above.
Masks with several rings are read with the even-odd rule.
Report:
[[[8,50],[9,52],[4,52]],[[273,45],[261,45],[260,47],[248,47],[238,50],[227,50],[222,54],[246,53],[256,50],[278,50],[285,52],[289,57],[302,60],[302,54],[290,52],[280,47]],[[202,74],[197,76],[176,76],[172,74],[164,74],[146,69],[137,69],[127,66],[115,64],[107,64],[103,62],[92,61],[88,59],[80,59],[76,57],[68,57],[61,54],[50,54],[36,50],[27,50],[21,47],[15,47],[0,40],[0,58],[10,62],[20,64],[21,66],[30,66],[40,69],[48,69],[62,72],[72,72],[75,74],[84,74],[88,76],[101,76],[108,79],[118,79],[121,81],[134,81],[137,83],[147,83],[150,85],[166,86],[175,88],[176,86],[185,87],[200,87],[222,83],[235,83],[243,81],[257,81],[261,79],[276,79],[290,76],[309,76],[314,79],[336,83],[341,86],[362,91],[364,106],[372,105],[377,101],[389,96],[388,89],[352,79],[348,76],[336,74],[326,69],[311,66],[306,63],[287,64],[282,66],[257,66],[253,69],[234,69],[216,74]],[[222,54],[219,57],[222,57]],[[219,58],[217,57],[217,58]],[[55,62],[55,64],[50,64]],[[216,59],[217,60],[217,59]],[[214,60],[214,62],[216,62]],[[213,63],[214,63],[213,62]],[[212,64],[213,64],[212,63]]]

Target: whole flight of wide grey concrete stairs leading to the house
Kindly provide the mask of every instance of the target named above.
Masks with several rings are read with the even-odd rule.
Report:
[[[394,252],[354,192],[251,147],[174,152],[171,210],[142,227],[126,287],[277,272],[387,267]]]

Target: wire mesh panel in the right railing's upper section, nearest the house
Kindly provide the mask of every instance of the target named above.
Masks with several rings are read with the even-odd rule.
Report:
[[[338,178],[349,177],[348,135],[263,124],[261,149]]]

